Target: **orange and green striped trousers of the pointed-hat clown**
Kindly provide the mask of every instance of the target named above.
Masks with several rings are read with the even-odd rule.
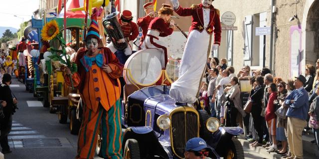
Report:
[[[122,159],[122,127],[120,99],[106,111],[99,105],[98,111],[83,106],[83,120],[78,138],[76,159],[93,159],[99,129],[102,134],[101,152],[104,159]]]

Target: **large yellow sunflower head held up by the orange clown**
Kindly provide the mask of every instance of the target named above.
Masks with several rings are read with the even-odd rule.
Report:
[[[52,40],[57,34],[59,34],[59,26],[55,20],[46,23],[41,31],[42,39],[45,41]]]

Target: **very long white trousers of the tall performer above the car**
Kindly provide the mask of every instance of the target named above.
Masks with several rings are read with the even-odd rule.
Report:
[[[192,30],[185,45],[178,79],[171,84],[169,95],[178,102],[194,103],[209,53],[210,35]]]

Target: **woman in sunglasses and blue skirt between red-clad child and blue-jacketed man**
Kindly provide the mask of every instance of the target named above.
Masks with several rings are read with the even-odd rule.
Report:
[[[286,83],[284,81],[281,81],[277,84],[278,88],[278,100],[275,102],[278,106],[281,106],[287,97],[287,89],[286,89]],[[286,108],[288,109],[288,108]],[[282,149],[278,150],[277,154],[286,154],[287,153],[287,138],[285,134],[285,129],[287,130],[287,117],[286,119],[277,117],[277,129],[276,129],[276,139],[277,141],[281,141],[282,143]]]

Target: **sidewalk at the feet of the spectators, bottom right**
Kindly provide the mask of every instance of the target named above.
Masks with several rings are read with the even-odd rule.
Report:
[[[265,148],[252,147],[243,135],[238,136],[237,139],[243,146],[245,159],[283,159],[282,156],[277,153],[266,152]],[[314,140],[312,133],[307,132],[303,135],[304,159],[319,159],[318,147],[316,144],[311,143],[312,140]],[[256,154],[259,154],[259,156],[256,156]]]

